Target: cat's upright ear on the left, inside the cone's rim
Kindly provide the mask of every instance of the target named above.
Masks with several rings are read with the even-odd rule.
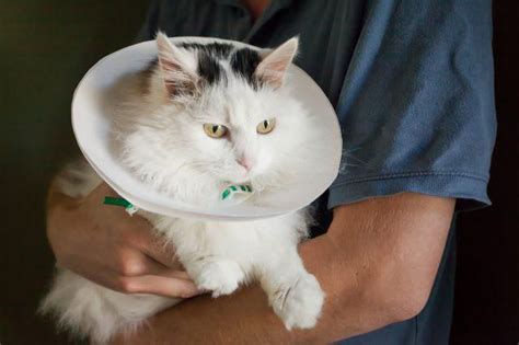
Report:
[[[175,47],[161,32],[157,34],[157,48],[160,73],[168,93],[172,96],[195,94],[199,79],[195,56]]]

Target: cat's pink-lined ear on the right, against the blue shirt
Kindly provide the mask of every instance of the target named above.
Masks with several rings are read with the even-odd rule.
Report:
[[[256,78],[275,89],[281,87],[288,66],[298,53],[298,46],[299,38],[293,37],[268,53],[256,67]]]

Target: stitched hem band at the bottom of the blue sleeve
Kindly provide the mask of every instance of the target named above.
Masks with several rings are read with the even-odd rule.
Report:
[[[330,187],[328,208],[404,192],[458,199],[458,210],[492,205],[487,177],[460,172],[410,172],[337,181]]]

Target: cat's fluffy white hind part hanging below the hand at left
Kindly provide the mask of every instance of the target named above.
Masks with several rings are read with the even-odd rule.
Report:
[[[177,303],[152,295],[126,295],[60,269],[39,311],[53,314],[59,326],[93,344],[105,344],[116,333],[131,333],[154,313]]]

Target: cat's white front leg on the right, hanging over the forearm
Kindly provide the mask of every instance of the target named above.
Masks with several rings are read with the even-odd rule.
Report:
[[[258,271],[268,302],[285,326],[313,327],[321,314],[324,292],[318,279],[304,269],[297,250],[270,255]]]

